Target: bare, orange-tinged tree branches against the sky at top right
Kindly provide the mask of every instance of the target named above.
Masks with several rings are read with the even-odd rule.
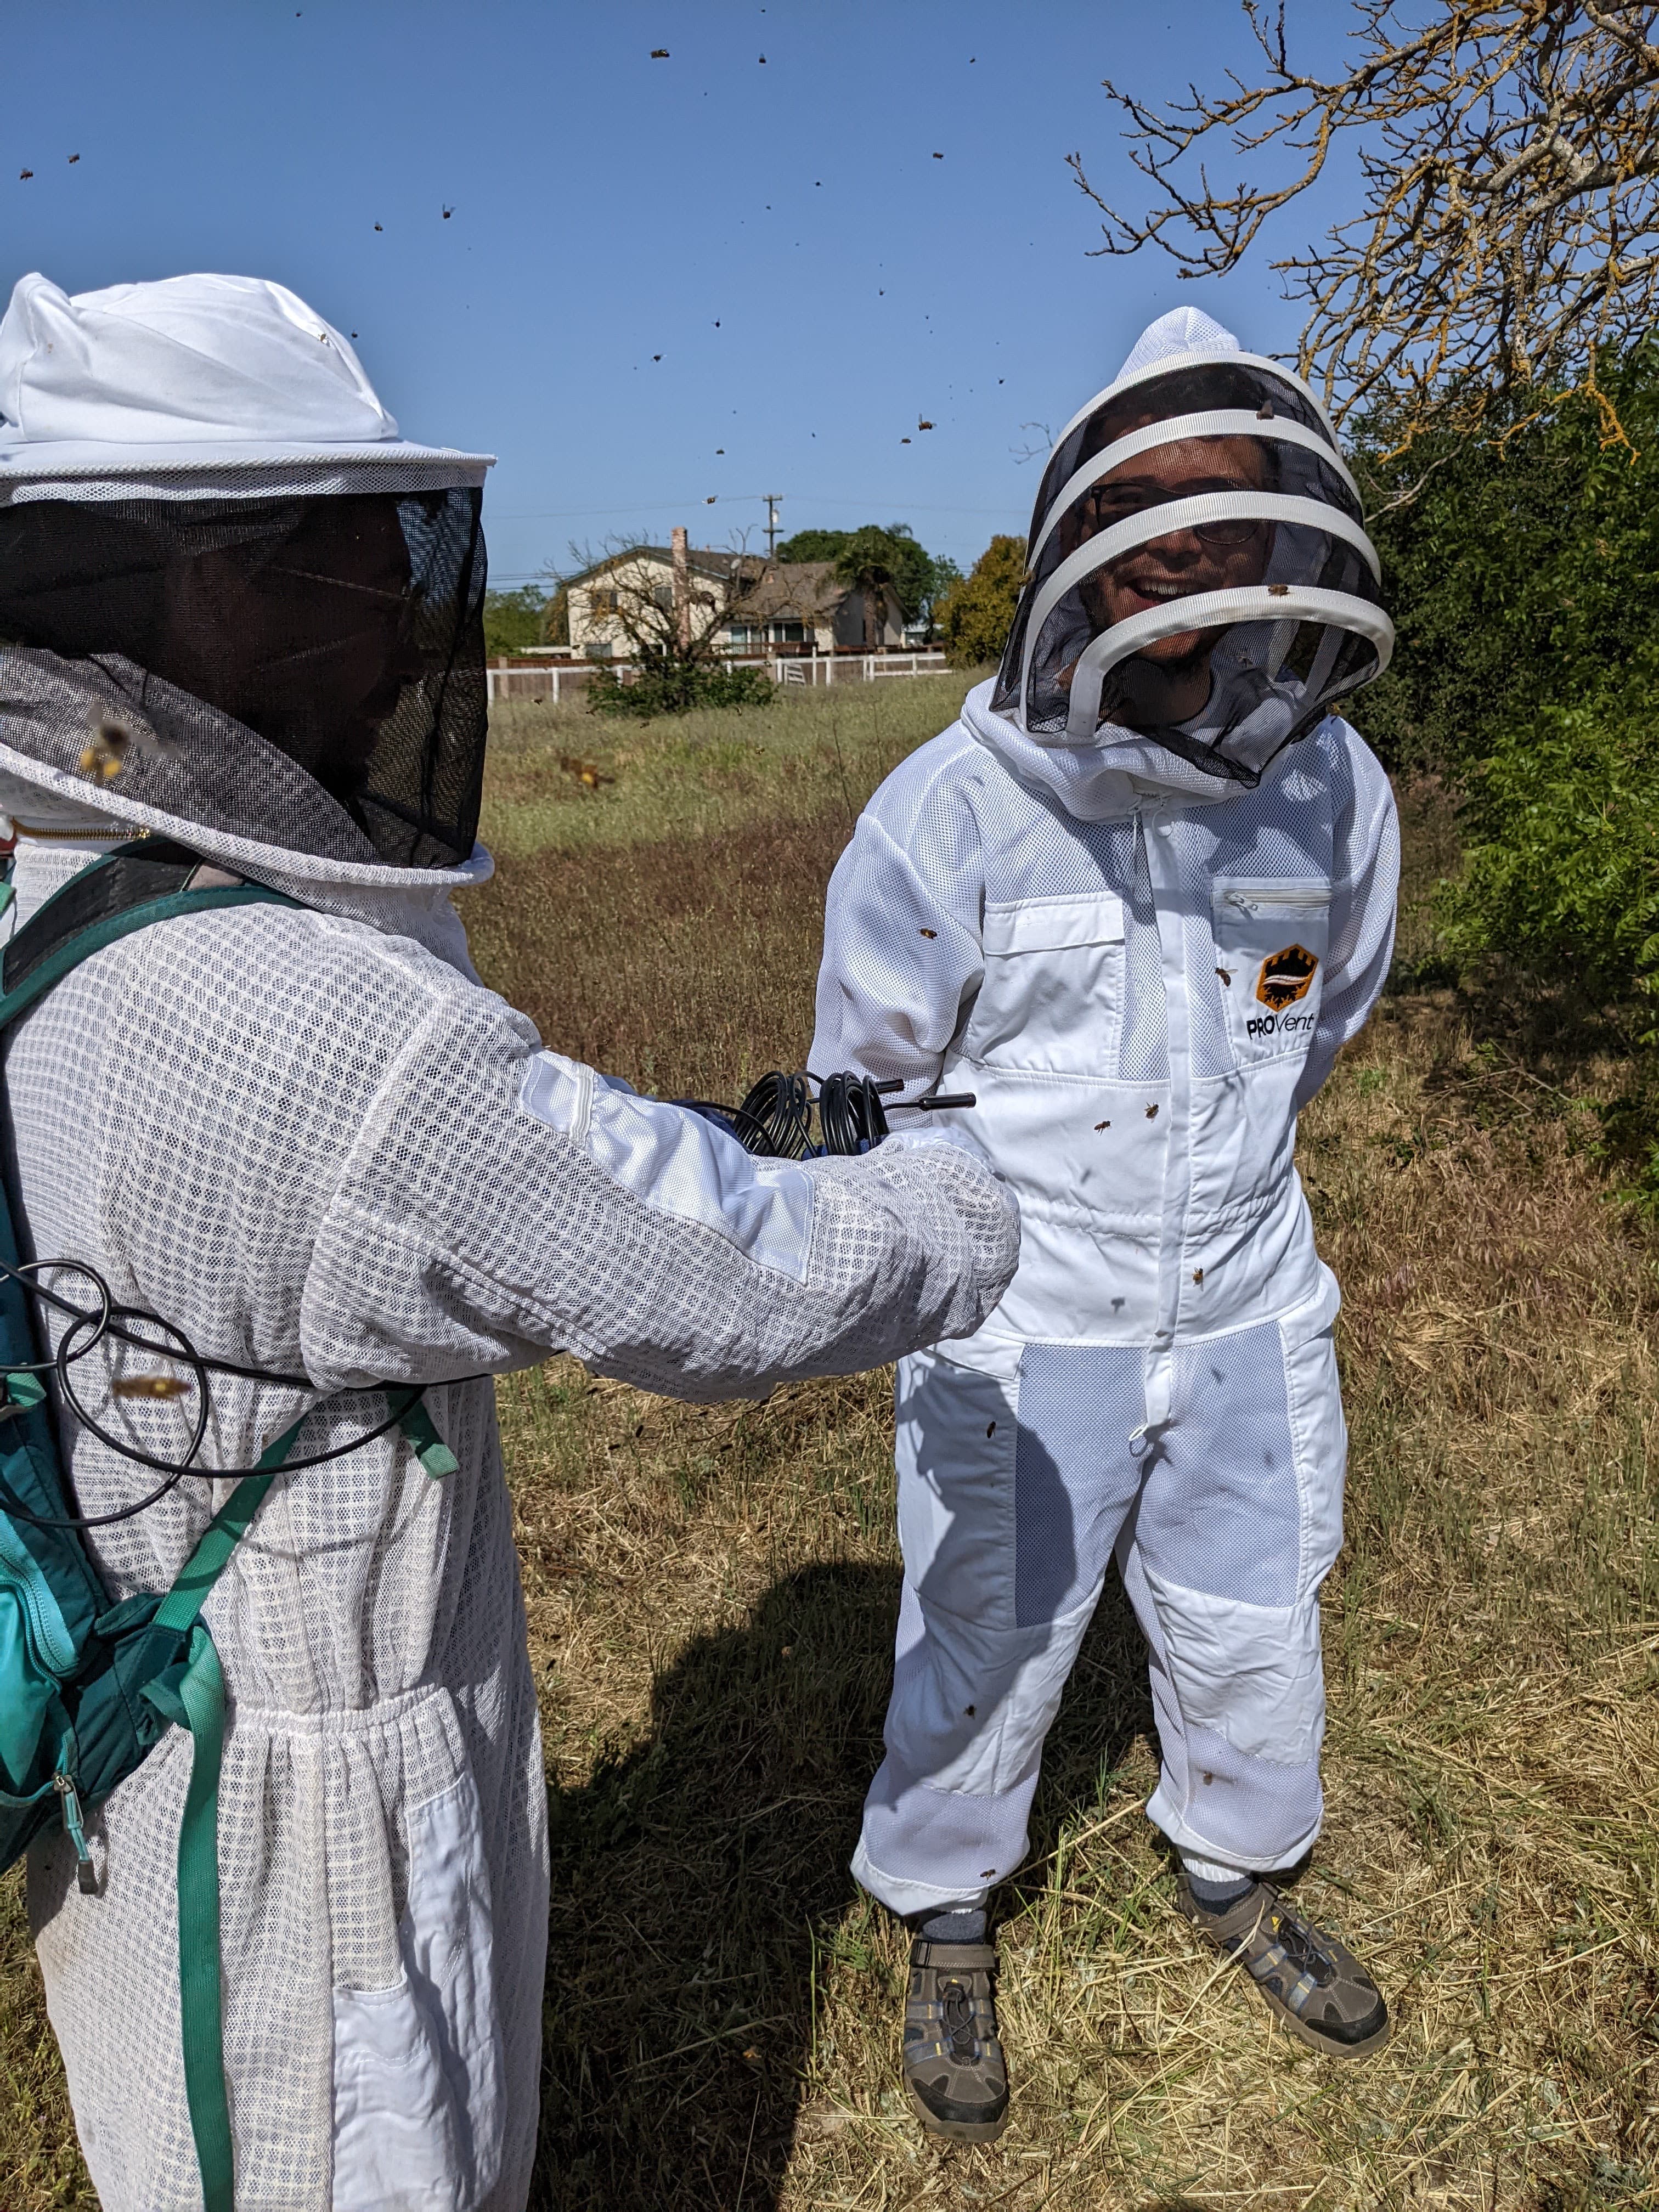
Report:
[[[1391,400],[1402,445],[1431,422],[1480,429],[1520,387],[1595,394],[1601,347],[1659,321],[1659,44],[1655,0],[1356,0],[1360,58],[1292,66],[1285,9],[1245,0],[1259,82],[1164,106],[1106,82],[1152,186],[1104,215],[1102,254],[1157,246],[1183,276],[1239,265],[1310,190],[1345,135],[1360,212],[1272,265],[1305,307],[1298,369],[1338,420]],[[1217,153],[1245,164],[1212,184]],[[1259,157],[1294,155],[1285,184]]]

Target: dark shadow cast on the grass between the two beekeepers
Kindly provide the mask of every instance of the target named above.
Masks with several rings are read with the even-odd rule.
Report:
[[[787,1575],[657,1679],[650,1741],[553,1792],[535,2212],[779,2203],[816,1960],[854,1898],[896,1617],[894,1566]],[[1148,1728],[1113,1575],[1048,1741],[1035,1854]],[[849,1971],[838,1960],[843,1997]],[[865,1978],[894,2013],[878,1960]]]

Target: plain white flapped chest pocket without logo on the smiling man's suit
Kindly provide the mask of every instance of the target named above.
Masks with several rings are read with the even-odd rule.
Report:
[[[1124,1020],[1124,900],[1033,898],[984,909],[984,982],[962,1051],[991,1066],[1102,1075]]]

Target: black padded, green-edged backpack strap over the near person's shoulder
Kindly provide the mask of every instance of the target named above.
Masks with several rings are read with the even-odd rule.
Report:
[[[170,838],[117,845],[53,891],[0,953],[0,1031],[62,982],[88,953],[150,922],[215,907],[292,907],[263,883],[212,880],[212,860]],[[208,883],[197,878],[208,876]]]

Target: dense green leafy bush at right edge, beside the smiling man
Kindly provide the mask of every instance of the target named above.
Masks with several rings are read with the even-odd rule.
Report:
[[[1409,460],[1363,460],[1400,648],[1356,719],[1460,794],[1453,953],[1566,984],[1624,1037],[1601,1115],[1659,1214],[1659,343],[1599,383],[1635,451],[1604,438],[1595,394],[1517,394],[1500,436],[1436,429]],[[1394,445],[1387,420],[1371,431]],[[1398,484],[1416,495],[1389,507]]]

